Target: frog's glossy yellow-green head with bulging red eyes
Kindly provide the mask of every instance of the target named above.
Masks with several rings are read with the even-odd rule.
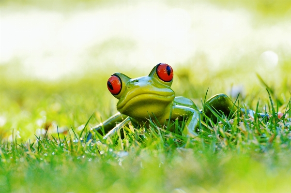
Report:
[[[119,99],[117,110],[127,116],[144,119],[152,113],[160,117],[169,111],[175,98],[170,88],[173,69],[165,63],[157,64],[148,76],[131,79],[121,73],[114,73],[107,81],[111,94]]]

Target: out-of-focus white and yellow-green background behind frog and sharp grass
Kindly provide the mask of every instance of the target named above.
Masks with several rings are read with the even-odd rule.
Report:
[[[160,62],[174,70],[176,95],[198,105],[209,88],[208,98],[240,93],[263,110],[269,88],[280,110],[290,31],[287,0],[2,0],[0,135],[81,130],[92,113],[93,126],[116,112],[110,74],[135,78]]]

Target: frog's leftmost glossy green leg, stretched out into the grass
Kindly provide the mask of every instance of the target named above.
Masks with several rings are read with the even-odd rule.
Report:
[[[99,125],[96,125],[95,127],[92,127],[91,130],[93,132],[98,132],[99,134],[107,134],[115,128],[117,123],[123,122],[125,119],[127,119],[128,116],[121,114],[120,112],[116,113],[115,115],[109,117],[107,120],[103,121]],[[104,133],[103,133],[104,129]],[[87,141],[92,139],[92,133],[90,132],[87,136]]]

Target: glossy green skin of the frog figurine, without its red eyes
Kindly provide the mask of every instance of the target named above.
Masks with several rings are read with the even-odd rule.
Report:
[[[152,119],[158,125],[167,126],[178,119],[179,121],[186,120],[183,134],[196,135],[195,130],[199,126],[199,116],[202,110],[199,110],[188,98],[175,97],[175,92],[170,88],[173,80],[170,82],[161,80],[156,74],[156,68],[157,65],[148,76],[135,79],[121,73],[115,73],[122,80],[121,92],[118,95],[113,95],[119,99],[117,103],[118,113],[92,128],[92,130],[103,134],[102,130],[104,129],[106,134],[104,138],[107,138],[123,126],[128,125],[130,121],[134,126],[138,126],[148,125],[149,119]],[[237,107],[225,94],[217,94],[211,97],[206,104],[219,112],[223,112],[226,116],[237,110]],[[206,107],[207,105],[204,106],[205,115],[212,118],[215,123],[217,121],[216,117]],[[169,130],[174,131],[173,127]],[[88,137],[91,138],[91,133],[89,135]]]

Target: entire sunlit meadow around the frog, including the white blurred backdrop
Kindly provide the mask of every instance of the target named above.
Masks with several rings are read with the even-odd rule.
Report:
[[[290,10],[287,0],[4,0],[0,193],[291,192]],[[197,136],[149,120],[86,142],[117,112],[108,77],[160,62],[176,96],[202,108],[225,93],[269,119],[217,113]]]

